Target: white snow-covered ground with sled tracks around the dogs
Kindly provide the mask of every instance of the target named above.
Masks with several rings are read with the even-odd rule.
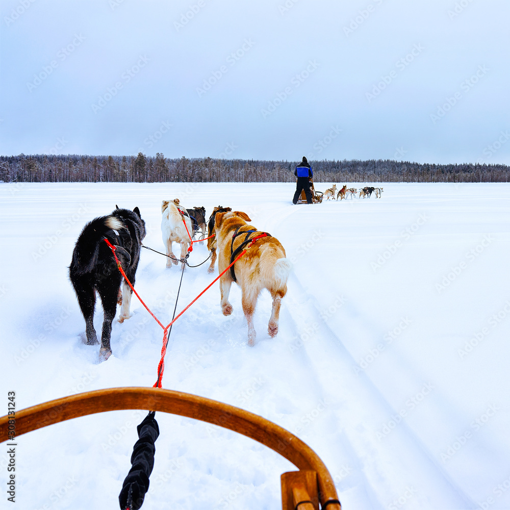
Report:
[[[331,183],[332,184],[332,183]],[[343,183],[337,183],[343,184]],[[351,184],[351,183],[349,183]],[[316,184],[324,191],[330,184]],[[356,183],[352,183],[356,186]],[[2,184],[2,395],[17,409],[72,393],[152,386],[162,334],[136,297],[98,363],[67,277],[83,225],[138,206],[162,250],[162,199],[248,213],[293,261],[279,333],[264,293],[246,345],[240,291],[215,284],[173,327],[163,387],[247,409],[322,458],[346,510],[510,508],[510,185],[384,184],[382,198],[293,206],[292,184]],[[190,263],[207,257],[195,244]],[[216,273],[217,274],[217,269]],[[142,250],[137,290],[169,322],[180,268]],[[188,269],[177,311],[213,279]],[[102,311],[97,307],[99,331]],[[142,411],[97,414],[18,438],[18,508],[117,508]],[[143,508],[281,507],[293,466],[216,426],[157,413]],[[6,499],[7,447],[0,450]]]

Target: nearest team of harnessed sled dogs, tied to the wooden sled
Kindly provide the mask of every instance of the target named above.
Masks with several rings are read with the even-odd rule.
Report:
[[[268,324],[270,337],[278,333],[278,318],[282,298],[287,293],[287,279],[291,264],[285,256],[282,244],[266,232],[258,231],[249,224],[251,219],[242,211],[230,207],[215,207],[206,221],[203,207],[185,209],[179,199],[163,200],[161,203],[161,232],[166,248],[166,267],[177,265],[186,257],[193,238],[199,231],[202,238],[209,237],[207,248],[211,252],[208,272],[214,272],[216,259],[219,273],[223,272],[242,252],[249,248],[220,278],[220,304],[223,315],[232,313],[228,295],[233,282],[241,287],[241,304],[248,323],[248,344],[253,346],[256,331],[253,314],[262,289],[267,289],[272,298],[272,311]],[[105,361],[112,354],[110,338],[112,322],[117,304],[121,305],[119,322],[130,318],[131,287],[125,282],[115,261],[111,246],[125,272],[127,279],[135,285],[135,273],[140,260],[142,240],[145,237],[145,221],[135,207],[116,209],[108,216],[88,222],[74,246],[69,266],[69,278],[78,298],[85,319],[87,345],[98,344],[94,329],[96,293],[101,298],[104,310],[99,359]],[[172,243],[181,245],[180,258],[175,257]],[[200,242],[202,244],[202,242]]]

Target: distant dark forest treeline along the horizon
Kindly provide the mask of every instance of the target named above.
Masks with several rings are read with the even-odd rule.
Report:
[[[0,156],[0,181],[56,182],[294,182],[298,162],[165,158],[145,156]],[[508,182],[506,165],[434,165],[393,160],[311,161],[314,181],[325,183],[407,182],[478,183]]]

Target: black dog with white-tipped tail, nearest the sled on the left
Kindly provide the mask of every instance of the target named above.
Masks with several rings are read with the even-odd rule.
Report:
[[[119,322],[129,319],[132,294],[126,282],[122,286],[122,293],[120,291],[122,275],[105,239],[117,246],[117,258],[127,278],[134,285],[140,260],[140,246],[145,237],[145,221],[140,217],[138,207],[133,211],[116,207],[109,216],[95,218],[83,227],[74,245],[69,266],[69,278],[85,318],[87,345],[99,343],[93,322],[96,291],[103,303],[103,332],[99,350],[101,361],[107,360],[112,353],[110,336],[116,305],[122,304]]]

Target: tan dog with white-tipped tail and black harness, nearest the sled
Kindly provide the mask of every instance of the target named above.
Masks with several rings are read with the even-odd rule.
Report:
[[[246,221],[251,220],[246,213],[240,211],[218,212],[215,218],[215,232],[220,273],[242,252],[243,245],[244,248],[250,246],[234,266],[221,276],[220,292],[223,315],[230,315],[232,304],[228,302],[228,294],[232,282],[237,282],[241,287],[243,312],[248,322],[248,344],[253,346],[257,335],[253,327],[253,313],[262,289],[267,289],[273,298],[267,332],[270,337],[278,333],[280,305],[287,293],[287,278],[291,264],[285,258],[284,247],[270,235],[257,239],[250,245],[249,239],[265,233],[257,231],[257,228],[248,225]],[[245,241],[248,243],[244,244]]]

